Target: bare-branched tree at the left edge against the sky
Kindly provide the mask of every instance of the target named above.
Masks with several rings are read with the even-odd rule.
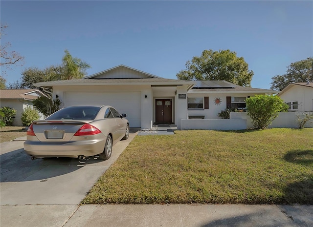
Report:
[[[7,25],[0,25],[0,39],[4,33],[4,29],[7,28]],[[10,50],[11,43],[10,42],[4,42],[0,45],[0,66],[1,66],[1,75],[5,75],[6,71],[5,69],[11,69],[13,65],[23,64],[24,57],[22,57],[19,53],[16,51]]]

